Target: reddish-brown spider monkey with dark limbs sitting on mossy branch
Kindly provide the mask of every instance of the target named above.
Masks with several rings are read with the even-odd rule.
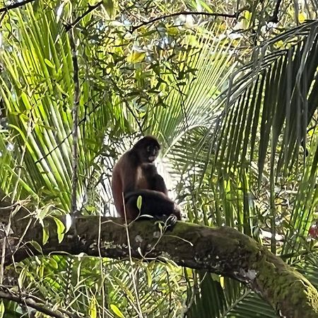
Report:
[[[165,181],[154,164],[159,151],[158,140],[146,136],[137,141],[114,165],[112,195],[120,216],[124,217],[126,211],[128,220],[134,220],[139,214],[159,219],[174,215],[181,220],[179,207],[167,196]],[[140,211],[137,208],[139,196],[142,198]]]

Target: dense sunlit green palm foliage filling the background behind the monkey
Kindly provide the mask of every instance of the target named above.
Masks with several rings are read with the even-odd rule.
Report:
[[[184,220],[237,228],[318,286],[317,1],[27,2],[0,9],[1,191],[44,232],[49,217],[113,215],[114,160],[153,134]],[[171,260],[55,255],[11,271],[84,317],[277,317]]]

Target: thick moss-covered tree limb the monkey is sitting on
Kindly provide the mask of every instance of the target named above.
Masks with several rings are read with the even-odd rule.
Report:
[[[11,210],[0,201],[0,222],[8,221]],[[71,229],[61,240],[56,223],[47,218],[49,239],[43,245],[42,225],[27,215],[22,208],[11,218],[13,233],[7,237],[6,264],[52,252],[84,252],[116,259],[127,259],[129,255],[145,260],[172,259],[180,266],[204,269],[245,283],[283,317],[318,317],[318,293],[314,286],[266,247],[235,229],[177,222],[173,230],[165,230],[151,220],[138,220],[126,226],[120,218],[88,216],[74,220],[78,236]],[[24,232],[24,243],[18,246]],[[4,238],[0,248],[3,243]]]

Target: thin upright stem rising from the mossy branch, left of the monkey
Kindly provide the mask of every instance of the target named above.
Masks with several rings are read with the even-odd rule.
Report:
[[[73,37],[73,30],[69,33],[69,40],[71,44],[72,60],[73,60],[73,82],[74,82],[74,101],[73,101],[73,128],[72,128],[72,193],[71,193],[71,216],[77,210],[76,192],[78,184],[78,105],[80,96],[80,87],[78,81],[78,61],[76,56],[76,45]]]

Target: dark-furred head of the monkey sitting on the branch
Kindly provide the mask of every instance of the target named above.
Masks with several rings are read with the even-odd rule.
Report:
[[[153,163],[158,156],[160,145],[155,137],[146,136],[137,141],[134,150],[137,151],[141,163]]]

